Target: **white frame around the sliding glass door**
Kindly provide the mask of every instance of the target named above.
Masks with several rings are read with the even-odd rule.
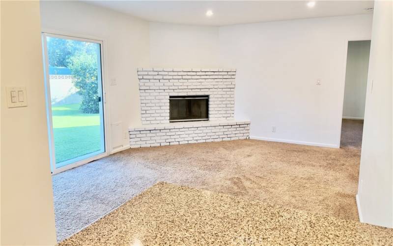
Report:
[[[102,87],[102,101],[103,101],[103,117],[104,117],[104,146],[105,152],[97,155],[93,155],[81,160],[77,160],[73,163],[69,163],[65,166],[56,168],[56,159],[55,159],[55,142],[53,137],[53,122],[52,122],[52,107],[51,107],[51,92],[50,92],[50,83],[49,83],[49,61],[48,61],[48,49],[47,49],[47,39],[46,37],[58,37],[63,39],[72,39],[84,42],[92,42],[100,44],[100,55],[101,55],[101,87]],[[46,88],[46,107],[47,107],[47,121],[48,121],[48,135],[49,135],[49,149],[50,149],[50,159],[51,159],[51,169],[52,175],[64,172],[66,170],[84,165],[93,160],[100,159],[109,155],[109,117],[108,117],[108,101],[107,101],[107,93],[106,93],[106,83],[105,83],[105,68],[104,68],[104,39],[95,38],[95,37],[87,37],[84,35],[73,35],[69,33],[64,33],[60,31],[42,31],[42,46],[43,46],[43,58],[44,58],[44,71],[45,71],[45,88]],[[81,156],[83,157],[83,156]]]

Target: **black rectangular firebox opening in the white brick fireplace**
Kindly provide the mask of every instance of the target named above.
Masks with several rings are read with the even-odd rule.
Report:
[[[208,95],[169,96],[169,122],[208,120]]]

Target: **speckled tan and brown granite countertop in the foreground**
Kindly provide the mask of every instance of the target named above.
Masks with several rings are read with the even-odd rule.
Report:
[[[393,229],[159,183],[60,243],[76,245],[392,245]]]

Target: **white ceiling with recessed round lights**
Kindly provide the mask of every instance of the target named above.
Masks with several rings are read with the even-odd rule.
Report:
[[[373,1],[88,1],[148,21],[224,26],[242,23],[365,14]],[[208,9],[212,17],[206,17]]]

